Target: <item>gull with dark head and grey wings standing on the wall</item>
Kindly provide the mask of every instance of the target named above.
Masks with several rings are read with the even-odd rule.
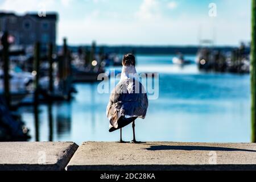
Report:
[[[144,119],[147,113],[148,98],[144,86],[139,81],[135,69],[135,57],[128,53],[123,56],[121,79],[110,94],[106,115],[109,118],[109,132],[120,129],[120,143],[122,127],[133,123],[132,143],[139,143],[135,139],[135,119]]]

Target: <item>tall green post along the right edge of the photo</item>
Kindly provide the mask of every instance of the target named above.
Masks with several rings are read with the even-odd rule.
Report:
[[[251,142],[256,142],[256,0],[252,0],[251,6]]]

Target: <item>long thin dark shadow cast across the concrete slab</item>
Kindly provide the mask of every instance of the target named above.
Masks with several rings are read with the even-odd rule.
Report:
[[[241,148],[228,148],[228,147],[209,147],[209,146],[150,146],[145,148],[146,150],[156,151],[156,150],[205,150],[205,151],[245,151],[245,152],[256,152],[256,150],[247,150]]]

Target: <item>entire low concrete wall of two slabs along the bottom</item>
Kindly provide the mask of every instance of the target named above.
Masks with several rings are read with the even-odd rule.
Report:
[[[256,170],[256,143],[0,142],[0,170]]]

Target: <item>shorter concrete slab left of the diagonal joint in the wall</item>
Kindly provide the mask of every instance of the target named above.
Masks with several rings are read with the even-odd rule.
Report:
[[[0,142],[0,170],[64,170],[73,142]]]

